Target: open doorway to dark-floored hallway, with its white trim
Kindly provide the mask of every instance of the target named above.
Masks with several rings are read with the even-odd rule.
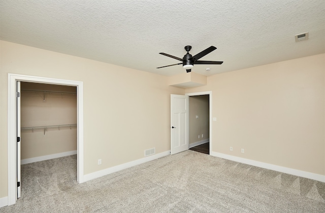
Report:
[[[212,151],[212,91],[185,95],[190,99],[189,149],[210,155]],[[194,99],[191,101],[191,98]]]

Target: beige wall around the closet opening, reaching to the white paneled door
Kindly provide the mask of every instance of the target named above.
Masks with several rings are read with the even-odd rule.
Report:
[[[0,198],[8,196],[8,73],[83,81],[84,173],[170,150],[170,94],[185,89],[167,77],[1,41]],[[98,165],[102,159],[102,165]]]

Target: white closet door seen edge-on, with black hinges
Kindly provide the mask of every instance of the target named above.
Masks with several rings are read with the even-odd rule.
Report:
[[[17,118],[17,198],[20,198],[20,81],[17,81],[17,107],[16,107],[16,118]]]

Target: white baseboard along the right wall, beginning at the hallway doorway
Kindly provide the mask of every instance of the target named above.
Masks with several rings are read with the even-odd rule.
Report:
[[[274,164],[268,164],[268,163],[249,160],[249,159],[240,158],[240,157],[236,157],[236,156],[226,155],[226,154],[222,154],[222,153],[217,153],[216,151],[210,151],[210,155],[219,157],[219,158],[223,158],[223,159],[227,159],[227,160],[231,160],[231,161],[236,161],[239,163],[244,163],[244,164],[248,164],[248,165],[252,165],[252,166],[257,166],[257,167],[261,167],[261,168],[265,168],[265,169],[270,169],[270,170],[274,170],[274,171],[278,171],[278,172],[283,172],[283,173],[287,173],[287,174],[292,174],[292,175],[296,175],[296,176],[300,176],[300,177],[306,177],[309,179],[325,182],[325,175],[321,175],[321,174],[315,174],[315,173],[301,171],[301,170],[297,170],[297,169],[291,169],[291,168],[287,168],[287,167],[283,167],[283,166],[277,166]]]

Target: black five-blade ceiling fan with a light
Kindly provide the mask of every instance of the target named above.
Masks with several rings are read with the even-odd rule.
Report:
[[[214,46],[211,46],[205,50],[203,50],[202,52],[199,52],[198,54],[192,56],[191,54],[189,54],[189,50],[191,50],[191,46],[185,46],[184,49],[187,51],[187,53],[184,55],[183,58],[179,58],[170,54],[166,54],[164,52],[159,52],[159,54],[161,55],[166,55],[168,57],[180,60],[182,63],[178,63],[178,64],[174,64],[174,65],[181,65],[183,64],[183,68],[186,69],[186,72],[189,73],[191,71],[191,69],[193,68],[193,65],[221,65],[223,62],[212,62],[210,60],[198,60],[200,58],[202,58],[203,56],[209,54],[210,52],[212,52],[213,50],[217,49]],[[174,65],[167,65],[164,67],[170,67],[170,66],[174,66]],[[159,68],[163,68],[163,67],[157,67],[157,69]]]

